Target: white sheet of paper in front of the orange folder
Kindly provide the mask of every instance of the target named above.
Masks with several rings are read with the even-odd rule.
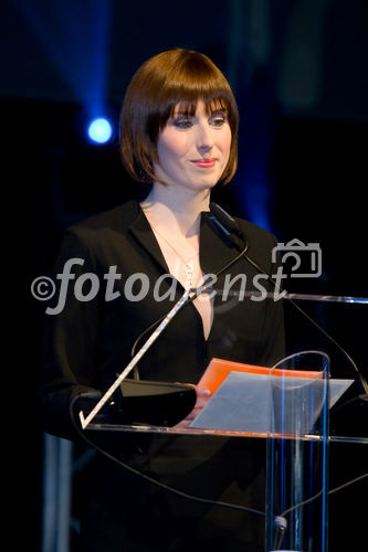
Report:
[[[294,399],[292,399],[294,401],[295,399],[303,401],[303,396],[307,400],[309,395],[307,386],[311,383],[317,390],[316,385],[320,385],[320,390],[323,390],[324,385],[323,380],[290,376],[286,379],[272,378],[276,386],[277,380],[280,385],[287,385],[288,391],[294,393]],[[283,384],[282,381],[287,383]],[[354,380],[328,380],[329,407],[338,401],[353,382]],[[225,432],[267,433],[271,431],[273,393],[269,375],[230,372],[203,410],[193,420],[190,427]],[[323,396],[323,391],[320,391],[320,396]],[[297,407],[298,403],[296,404]],[[317,418],[319,411],[320,405],[314,404],[314,420]],[[303,422],[303,425],[304,433],[312,431],[311,416],[306,416],[306,422]]]

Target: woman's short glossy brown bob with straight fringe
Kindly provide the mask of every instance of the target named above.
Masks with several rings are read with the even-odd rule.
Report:
[[[180,112],[192,116],[202,100],[208,115],[221,109],[231,128],[228,164],[220,182],[228,183],[238,163],[239,114],[234,95],[221,71],[204,54],[169,50],[144,63],[127,88],[120,115],[120,153],[123,164],[134,180],[159,181],[153,162],[158,162],[159,132]],[[161,182],[165,184],[165,182]]]

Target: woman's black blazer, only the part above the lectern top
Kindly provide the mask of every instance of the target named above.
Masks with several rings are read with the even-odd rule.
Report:
[[[203,216],[204,219],[204,216]],[[246,221],[239,221],[249,242],[248,255],[266,274],[274,274],[271,252],[274,237]],[[239,251],[229,246],[202,220],[200,262],[206,274],[215,274],[236,257]],[[65,307],[57,315],[46,315],[45,353],[40,386],[40,408],[48,431],[70,436],[67,404],[80,386],[107,389],[116,374],[128,364],[132,348],[140,333],[166,315],[183,293],[169,274],[156,237],[135,201],[93,216],[66,231],[55,264],[55,276],[69,259],[75,274],[69,282]],[[116,267],[120,278],[108,288],[105,275]],[[85,299],[75,297],[81,287]],[[256,272],[239,259],[214,284],[223,289],[227,278],[243,274],[246,290],[254,289]],[[136,276],[135,276],[136,275]],[[157,280],[161,277],[160,286]],[[57,282],[57,276],[55,277]],[[75,283],[77,285],[75,286]],[[169,295],[176,284],[176,294]],[[156,285],[156,288],[155,288]],[[264,282],[262,285],[265,286]],[[111,283],[112,286],[112,283]],[[234,284],[231,290],[239,289]],[[96,290],[98,293],[96,295]],[[164,300],[155,300],[155,293]],[[133,296],[134,300],[130,300]],[[113,298],[115,297],[115,298]],[[141,298],[140,298],[141,297]],[[82,297],[83,298],[83,297]],[[201,317],[192,304],[182,308],[159,339],[139,362],[141,379],[197,383],[211,358],[224,358],[253,364],[271,365],[284,353],[282,301],[227,300],[215,296],[214,319],[204,340]],[[55,308],[49,305],[50,308]],[[149,333],[140,341],[144,343]]]

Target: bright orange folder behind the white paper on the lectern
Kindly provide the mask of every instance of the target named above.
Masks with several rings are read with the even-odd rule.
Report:
[[[308,370],[282,370],[280,368],[272,370],[272,368],[259,367],[255,364],[243,364],[242,362],[233,362],[231,360],[212,359],[200,379],[198,386],[209,389],[211,394],[213,394],[230,372],[246,372],[249,374],[264,375],[272,373],[272,375],[311,379],[319,379],[323,376],[323,372]]]

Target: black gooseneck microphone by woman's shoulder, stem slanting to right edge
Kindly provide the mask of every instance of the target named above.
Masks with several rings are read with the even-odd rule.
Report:
[[[227,213],[220,205],[217,203],[210,203],[210,210],[212,213],[212,216],[217,219],[218,221],[218,229],[224,229],[227,240],[230,240],[229,234],[233,235],[233,243],[239,247],[239,242],[238,240],[242,240],[243,242],[248,243],[246,237],[244,236],[243,232],[241,231],[239,223],[235,219],[233,219],[229,213]],[[276,283],[272,279],[272,277],[266,274],[264,268],[259,266],[245,252],[243,254],[243,258],[253,267],[255,270],[257,270],[260,274],[264,275],[267,278],[267,282],[273,286],[274,289],[280,291],[278,289],[278,284],[276,287]],[[287,291],[284,289],[283,290],[285,294]],[[299,307],[293,299],[288,298],[288,301],[315,327],[317,328],[318,331],[320,331],[337,349],[346,357],[346,359],[349,361],[350,365],[354,368],[356,375],[359,380],[360,386],[362,389],[362,394],[359,395],[359,399],[362,401],[368,401],[368,383],[358,369],[357,364],[354,362],[353,358],[349,355],[349,353],[324,329],[322,328],[307,312],[305,312],[302,307]]]

